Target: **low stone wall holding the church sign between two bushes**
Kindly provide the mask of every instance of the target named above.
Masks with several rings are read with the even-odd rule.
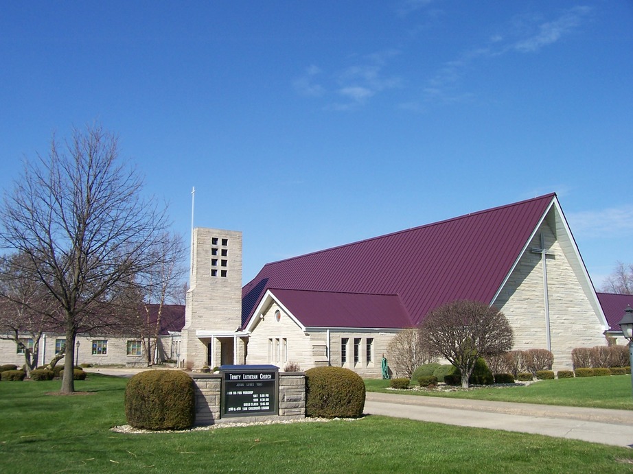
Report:
[[[216,423],[255,423],[264,420],[292,420],[306,416],[306,375],[303,372],[279,372],[279,416],[231,416],[220,418],[222,375],[194,374],[196,390],[196,426]]]

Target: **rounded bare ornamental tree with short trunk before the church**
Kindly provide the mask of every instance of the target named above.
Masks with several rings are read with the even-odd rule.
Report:
[[[476,301],[453,301],[430,311],[420,325],[424,344],[459,369],[461,386],[479,357],[497,355],[512,347],[512,328],[498,309]]]

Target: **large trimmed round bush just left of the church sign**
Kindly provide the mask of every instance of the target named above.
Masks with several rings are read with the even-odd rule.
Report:
[[[147,370],[128,382],[125,416],[144,429],[187,429],[194,425],[194,381],[180,370]]]

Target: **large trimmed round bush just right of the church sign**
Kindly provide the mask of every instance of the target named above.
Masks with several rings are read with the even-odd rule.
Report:
[[[358,418],[363,408],[365,382],[356,372],[330,366],[306,370],[306,416]]]

